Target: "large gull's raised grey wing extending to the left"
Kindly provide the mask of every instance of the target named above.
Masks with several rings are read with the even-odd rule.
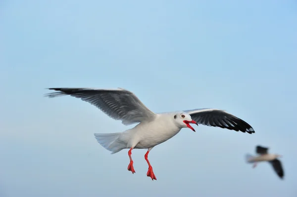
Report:
[[[109,117],[122,120],[125,125],[155,118],[137,96],[125,89],[90,89],[90,88],[48,88],[56,90],[46,94],[48,97],[70,95],[89,102]]]

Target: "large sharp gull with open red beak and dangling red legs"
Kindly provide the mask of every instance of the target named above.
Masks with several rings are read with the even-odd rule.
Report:
[[[190,125],[202,124],[207,126],[227,128],[252,134],[254,129],[244,120],[237,118],[223,110],[203,108],[166,113],[153,113],[131,91],[117,89],[93,89],[93,88],[47,88],[55,90],[48,93],[48,97],[70,95],[80,98],[96,106],[110,118],[121,120],[122,124],[137,125],[131,129],[116,133],[94,133],[98,143],[115,154],[123,149],[129,149],[130,163],[128,170],[135,173],[133,149],[148,149],[145,159],[148,162],[147,176],[151,180],[157,180],[148,161],[148,153],[153,147],[159,145],[173,136],[182,128],[195,129]]]

